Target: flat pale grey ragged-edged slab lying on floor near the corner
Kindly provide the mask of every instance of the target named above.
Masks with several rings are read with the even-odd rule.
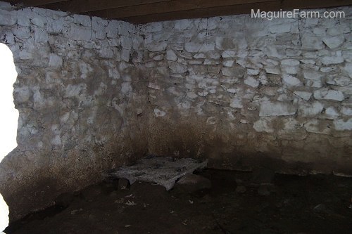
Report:
[[[135,181],[157,183],[170,190],[179,178],[203,169],[207,164],[208,160],[199,162],[191,158],[146,157],[130,167],[122,166],[108,176],[125,178],[130,184]]]

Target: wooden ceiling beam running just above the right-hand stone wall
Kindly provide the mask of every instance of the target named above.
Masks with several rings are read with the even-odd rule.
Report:
[[[335,6],[351,5],[351,0],[264,0],[262,2],[249,4],[237,4],[232,6],[221,6],[223,1],[213,1],[218,6],[205,7],[206,5],[194,7],[192,3],[181,4],[184,1],[172,1],[174,5],[168,6],[151,6],[141,5],[133,8],[109,9],[106,11],[95,11],[89,15],[95,15],[102,18],[119,19],[134,23],[155,22],[163,20],[176,20],[182,18],[205,18],[220,15],[236,15],[251,13],[251,9],[260,9],[261,11],[279,11],[292,9],[308,8],[329,8]],[[203,1],[204,2],[204,1]],[[149,4],[150,5],[150,4]],[[194,8],[191,8],[193,6]],[[154,8],[155,7],[155,8]],[[122,11],[123,9],[123,11]]]

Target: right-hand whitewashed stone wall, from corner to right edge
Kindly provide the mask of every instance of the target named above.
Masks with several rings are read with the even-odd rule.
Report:
[[[149,152],[352,174],[352,8],[329,11],[346,15],[144,25]]]

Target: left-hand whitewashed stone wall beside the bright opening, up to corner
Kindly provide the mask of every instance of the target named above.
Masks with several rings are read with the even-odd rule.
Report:
[[[1,4],[20,118],[0,193],[16,219],[146,153],[146,77],[136,69],[143,48],[134,25]]]

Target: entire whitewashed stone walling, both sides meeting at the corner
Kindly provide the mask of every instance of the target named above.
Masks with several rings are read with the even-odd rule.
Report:
[[[352,174],[351,7],[138,26],[0,8],[18,70],[18,148],[0,164],[13,220],[148,153]]]

